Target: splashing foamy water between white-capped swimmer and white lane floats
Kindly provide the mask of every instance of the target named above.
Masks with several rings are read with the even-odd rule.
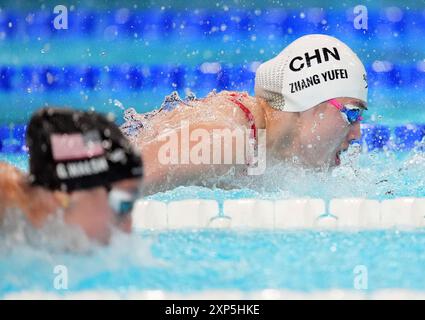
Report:
[[[150,199],[172,201],[202,199],[286,199],[314,197],[322,199],[363,197],[390,199],[425,196],[425,154],[419,150],[409,153],[361,153],[351,146],[342,156],[342,165],[332,171],[313,171],[285,164],[268,167],[262,176],[220,177],[220,188],[178,187],[157,193]]]

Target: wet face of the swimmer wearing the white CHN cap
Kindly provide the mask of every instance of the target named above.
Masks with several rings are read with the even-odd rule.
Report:
[[[352,98],[337,98],[342,104],[364,106],[364,102]],[[338,166],[340,154],[353,140],[360,139],[360,121],[348,124],[341,112],[324,102],[301,115],[300,157],[311,167]]]

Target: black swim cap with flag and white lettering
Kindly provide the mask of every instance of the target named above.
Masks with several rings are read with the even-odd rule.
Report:
[[[30,181],[72,192],[143,176],[140,154],[112,119],[93,111],[43,108],[28,124]]]

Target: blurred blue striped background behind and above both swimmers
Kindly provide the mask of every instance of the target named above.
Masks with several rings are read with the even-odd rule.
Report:
[[[297,37],[350,45],[368,70],[372,125],[425,123],[425,3],[366,1],[73,1],[56,30],[57,1],[1,1],[0,139],[40,106],[144,112],[173,90],[253,93],[255,68]],[[213,73],[202,66],[213,63]],[[15,129],[13,129],[15,130]],[[14,134],[20,139],[22,129]]]

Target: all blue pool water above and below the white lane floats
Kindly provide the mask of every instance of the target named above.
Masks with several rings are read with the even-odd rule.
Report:
[[[6,153],[10,144],[5,142],[18,140],[12,149],[22,149],[23,125],[40,106],[114,113],[121,124],[122,109],[151,111],[173,90],[182,97],[189,89],[198,97],[214,88],[253,94],[259,62],[301,35],[325,33],[355,49],[367,69],[365,123],[377,129],[363,141],[363,151],[353,145],[332,172],[276,165],[259,177],[225,176],[215,180],[214,188],[179,187],[148,199],[223,203],[242,198],[425,196],[425,140],[413,149],[380,142],[389,138],[390,127],[401,128],[395,142],[412,144],[416,138],[409,135],[416,135],[418,142],[425,135],[425,64],[423,43],[417,41],[425,30],[421,6],[368,3],[369,30],[357,30],[347,20],[357,1],[321,1],[320,10],[313,4],[256,0],[237,6],[173,0],[161,7],[155,2],[93,1],[70,7],[70,30],[59,31],[48,27],[56,4],[7,1],[0,14],[0,161],[27,171],[27,155]],[[188,24],[182,28],[184,20]],[[219,66],[216,73],[200,72],[202,64],[211,62]],[[422,131],[403,133],[402,127],[410,124]],[[195,298],[211,290],[356,292],[359,267],[367,273],[365,292],[395,288],[425,294],[424,248],[422,229],[116,232],[110,246],[99,247],[59,218],[42,230],[18,218],[0,228],[0,298],[86,291],[126,297],[145,290],[192,293]],[[57,266],[66,267],[67,290],[55,286]]]

